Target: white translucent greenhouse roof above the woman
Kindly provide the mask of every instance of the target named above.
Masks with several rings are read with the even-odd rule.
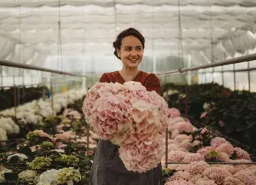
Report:
[[[145,35],[149,57],[181,55],[182,38],[192,63],[218,61],[255,48],[256,1],[1,0],[0,58],[36,65],[60,53],[112,57],[128,27]]]

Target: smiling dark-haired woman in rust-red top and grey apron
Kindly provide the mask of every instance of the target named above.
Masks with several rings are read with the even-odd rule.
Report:
[[[143,58],[145,38],[134,28],[122,31],[113,43],[114,55],[123,62],[120,71],[104,73],[100,82],[141,82],[148,91],[160,94],[160,81],[153,73],[139,70]],[[117,145],[100,139],[93,160],[90,185],[159,185],[160,164],[146,173],[130,172],[120,160]]]

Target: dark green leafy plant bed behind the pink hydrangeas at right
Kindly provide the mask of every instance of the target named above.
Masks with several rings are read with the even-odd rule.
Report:
[[[215,130],[250,148],[256,148],[255,93],[230,91],[217,84],[170,84],[166,85],[164,90],[163,96],[169,100],[169,107],[176,107],[183,115],[187,108],[187,115],[196,121],[214,127]]]

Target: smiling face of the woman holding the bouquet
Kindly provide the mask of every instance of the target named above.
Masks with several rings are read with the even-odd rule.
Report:
[[[143,58],[142,43],[137,37],[124,37],[117,55],[121,58],[123,65],[129,68],[138,68]]]

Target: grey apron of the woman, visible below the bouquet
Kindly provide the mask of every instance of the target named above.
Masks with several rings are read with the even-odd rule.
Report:
[[[151,169],[146,173],[130,172],[120,160],[118,147],[109,141],[99,139],[90,185],[160,185],[162,167]]]

